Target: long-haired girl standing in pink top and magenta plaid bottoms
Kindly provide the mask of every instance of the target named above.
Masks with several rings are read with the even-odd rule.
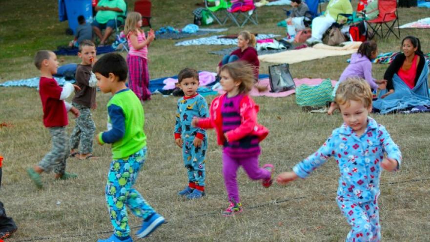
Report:
[[[148,46],[154,40],[154,30],[148,33],[148,39],[142,27],[142,15],[137,12],[127,14],[124,26],[124,35],[128,41],[128,86],[142,100],[150,100],[149,71],[148,71]]]

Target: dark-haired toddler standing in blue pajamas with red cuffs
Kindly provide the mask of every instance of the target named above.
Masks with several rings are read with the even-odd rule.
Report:
[[[207,151],[206,131],[191,126],[193,118],[207,118],[207,102],[197,93],[199,73],[185,68],[179,73],[179,85],[184,97],[178,100],[175,143],[182,148],[184,166],[188,169],[188,185],[178,195],[187,199],[205,196],[205,156]]]

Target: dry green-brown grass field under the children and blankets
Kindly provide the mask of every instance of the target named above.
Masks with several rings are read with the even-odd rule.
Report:
[[[134,0],[127,0],[132,9]],[[154,0],[151,23],[155,30],[165,25],[182,28],[193,21],[192,10],[200,0]],[[357,1],[354,0],[353,6]],[[259,24],[246,25],[256,33],[284,35],[276,23],[285,18],[282,8],[258,9]],[[400,8],[400,24],[429,17],[428,9]],[[240,30],[227,24],[225,34]],[[73,37],[65,35],[67,22],[58,21],[57,1],[0,0],[0,82],[37,77],[33,56],[39,49],[55,49]],[[219,27],[219,26],[213,26]],[[428,29],[402,29],[402,37],[420,38],[424,52],[430,52]],[[380,52],[398,51],[400,40],[391,36],[377,40]],[[226,46],[174,46],[175,40],[156,40],[149,48],[151,78],[177,75],[184,67],[215,71],[220,56],[208,54]],[[122,55],[125,57],[125,53]],[[331,78],[337,80],[348,65],[349,56],[331,57],[291,64],[294,78]],[[61,64],[79,62],[77,57],[60,56]],[[260,73],[268,73],[262,63]],[[374,77],[382,79],[387,65],[374,64]],[[93,112],[97,132],[106,127],[106,103],[110,95],[97,94],[98,109]],[[207,98],[210,102],[213,97]],[[244,212],[224,218],[228,205],[221,173],[221,147],[209,131],[207,186],[205,198],[184,201],[176,193],[186,181],[181,150],[173,139],[175,97],[154,95],[145,102],[145,133],[149,157],[136,188],[167,224],[145,241],[287,241],[338,242],[350,227],[336,202],[338,168],[333,160],[316,170],[307,180],[265,189],[251,182],[241,170],[238,175]],[[255,98],[260,104],[259,122],[270,130],[261,143],[261,163],[274,163],[277,172],[291,167],[314,152],[342,123],[340,115],[304,113],[295,97]],[[383,241],[430,241],[430,114],[371,115],[385,125],[400,146],[404,161],[396,173],[383,172],[381,178],[380,218]],[[75,122],[69,116],[68,132]],[[67,170],[79,179],[54,181],[43,174],[43,190],[35,189],[26,169],[37,164],[50,149],[50,136],[42,124],[42,107],[36,89],[0,87],[0,154],[4,156],[0,201],[19,230],[7,241],[82,241],[94,242],[110,236],[112,226],[104,202],[104,185],[111,161],[108,145],[95,145],[97,161],[71,158]],[[58,203],[60,202],[60,203]],[[130,215],[132,233],[140,225]],[[138,241],[137,238],[134,238]]]

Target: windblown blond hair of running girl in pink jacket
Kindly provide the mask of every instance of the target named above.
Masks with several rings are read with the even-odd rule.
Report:
[[[255,76],[252,65],[246,64],[243,61],[234,61],[221,66],[221,71],[227,71],[231,79],[240,81],[239,93],[247,94],[254,86]]]

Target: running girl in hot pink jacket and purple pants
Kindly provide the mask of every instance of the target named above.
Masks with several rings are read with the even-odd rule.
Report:
[[[237,185],[237,170],[240,166],[252,180],[262,180],[263,186],[272,184],[274,166],[259,167],[260,141],[268,130],[257,123],[259,106],[247,95],[254,86],[251,66],[235,61],[221,66],[221,86],[226,92],[216,97],[210,105],[210,118],[193,119],[192,125],[200,128],[215,128],[218,144],[223,145],[223,175],[229,206],[224,216],[242,212],[242,203]]]

